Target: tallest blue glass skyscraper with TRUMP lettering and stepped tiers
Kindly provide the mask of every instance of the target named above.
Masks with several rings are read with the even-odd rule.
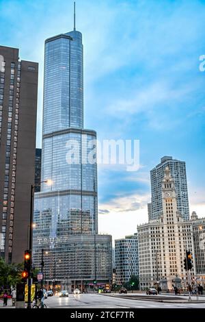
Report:
[[[75,29],[45,41],[42,184],[33,260],[47,280],[111,279],[111,236],[98,234],[96,132],[83,128],[83,45]],[[54,264],[55,263],[55,264]]]

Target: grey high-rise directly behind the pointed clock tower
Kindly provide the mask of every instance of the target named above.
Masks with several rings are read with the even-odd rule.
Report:
[[[152,203],[149,206],[149,219],[157,219],[163,210],[161,187],[165,168],[168,166],[174,179],[178,212],[185,220],[189,220],[189,198],[187,189],[187,173],[184,161],[173,160],[172,156],[164,156],[161,163],[150,171]]]

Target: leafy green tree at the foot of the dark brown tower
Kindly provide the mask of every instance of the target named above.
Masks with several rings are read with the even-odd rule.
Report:
[[[23,263],[8,264],[0,258],[0,286],[1,288],[10,288],[21,281],[23,272]]]

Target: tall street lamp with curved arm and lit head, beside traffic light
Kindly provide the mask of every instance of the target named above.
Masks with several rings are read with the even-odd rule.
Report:
[[[31,184],[31,204],[30,204],[30,223],[29,223],[29,251],[31,252],[32,258],[32,226],[33,226],[33,191],[36,186],[40,186],[42,183],[51,184],[51,180],[45,180],[39,182],[39,184]],[[28,304],[27,308],[31,308],[31,269],[29,270],[28,276]]]

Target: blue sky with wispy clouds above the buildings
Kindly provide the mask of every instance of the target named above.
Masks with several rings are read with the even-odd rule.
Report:
[[[100,140],[139,139],[139,171],[98,167],[99,231],[123,237],[148,220],[149,171],[162,156],[187,162],[190,208],[205,215],[205,1],[77,0],[83,33],[85,127]],[[72,0],[0,0],[0,43],[40,63],[44,40],[72,29]]]

